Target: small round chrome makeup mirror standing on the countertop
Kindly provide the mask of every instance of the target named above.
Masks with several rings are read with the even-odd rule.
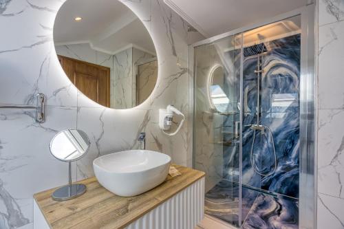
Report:
[[[50,152],[56,159],[69,164],[69,184],[54,191],[52,199],[65,201],[74,199],[86,192],[84,184],[72,184],[71,162],[83,157],[90,146],[89,138],[84,131],[77,129],[66,129],[57,133],[50,142]]]

